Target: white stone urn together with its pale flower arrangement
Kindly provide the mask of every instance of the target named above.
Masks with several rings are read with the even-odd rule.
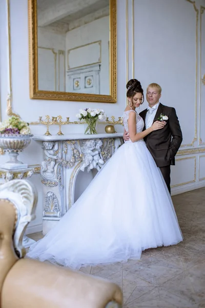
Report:
[[[18,152],[22,152],[30,142],[31,130],[29,124],[18,117],[12,116],[4,122],[0,122],[0,148],[9,152],[10,161],[3,164],[4,169],[27,168],[27,164],[17,160]]]

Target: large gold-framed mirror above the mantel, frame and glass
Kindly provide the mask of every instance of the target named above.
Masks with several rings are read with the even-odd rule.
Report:
[[[116,0],[28,0],[30,98],[116,103]]]

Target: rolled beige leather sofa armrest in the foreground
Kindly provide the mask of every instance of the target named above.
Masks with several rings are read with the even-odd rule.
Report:
[[[105,308],[110,302],[121,306],[116,284],[31,259],[14,264],[2,292],[2,308]]]

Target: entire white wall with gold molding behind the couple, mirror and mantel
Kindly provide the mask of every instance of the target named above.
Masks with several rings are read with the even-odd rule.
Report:
[[[128,3],[128,15],[126,15]],[[200,5],[205,1],[196,0],[198,10],[198,32],[196,45],[196,11],[186,0],[135,0],[134,28],[132,23],[132,0],[117,2],[117,103],[85,103],[65,101],[30,100],[29,98],[29,52],[27,0],[11,0],[11,49],[12,49],[12,90],[13,109],[28,122],[36,121],[39,115],[70,117],[75,119],[79,108],[100,107],[109,117],[119,117],[126,104],[125,85],[133,76],[146,86],[157,82],[162,86],[161,103],[176,108],[183,132],[183,147],[172,168],[173,194],[205,185],[205,86],[200,79],[205,73],[205,12],[200,14]],[[9,90],[7,57],[6,0],[0,2],[1,21],[1,103],[2,118],[6,115],[6,100]],[[201,31],[200,47],[200,18]],[[127,21],[127,22],[126,22]],[[126,31],[128,24],[128,32]],[[134,29],[134,40],[133,40]],[[128,35],[126,35],[128,34]],[[126,37],[128,40],[126,40]],[[134,45],[133,45],[134,43]],[[134,46],[134,50],[133,50]],[[195,48],[198,48],[197,55]],[[128,56],[126,51],[128,50]],[[133,66],[134,51],[134,66]],[[201,54],[201,60],[200,60]],[[128,61],[127,61],[128,60]],[[197,66],[197,70],[196,70]],[[201,67],[201,69],[200,69]],[[134,68],[134,73],[133,73]],[[197,83],[196,83],[197,76]],[[145,103],[143,107],[146,107]],[[195,115],[195,110],[196,115]],[[83,126],[83,125],[82,125]],[[83,129],[75,126],[75,131]],[[73,131],[73,126],[63,127]],[[33,133],[44,133],[45,127],[32,126]],[[51,129],[56,133],[57,127]],[[196,138],[195,138],[196,137]],[[200,142],[201,138],[201,142]],[[196,140],[195,140],[196,139]],[[195,140],[193,142],[193,140]],[[29,164],[39,164],[42,160],[40,144],[32,142],[21,155]],[[0,160],[5,161],[6,157]],[[39,202],[37,219],[32,222],[32,231],[39,229],[42,213],[42,190],[39,175],[31,179],[37,185]],[[35,228],[36,225],[36,228]]]

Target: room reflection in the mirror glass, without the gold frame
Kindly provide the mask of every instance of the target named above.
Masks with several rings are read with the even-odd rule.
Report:
[[[110,94],[109,0],[37,0],[38,90]]]

